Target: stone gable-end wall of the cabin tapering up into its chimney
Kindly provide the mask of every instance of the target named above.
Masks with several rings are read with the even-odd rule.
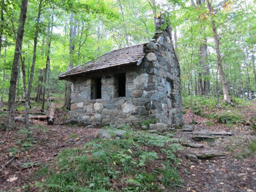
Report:
[[[144,45],[143,65],[150,79],[150,103],[146,103],[146,107],[155,107],[152,116],[159,119],[159,122],[172,126],[182,125],[180,65],[173,48],[168,13],[161,13],[158,18],[154,18],[154,23],[156,33]]]

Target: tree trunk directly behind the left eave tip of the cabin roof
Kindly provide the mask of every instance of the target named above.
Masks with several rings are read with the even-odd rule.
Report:
[[[70,17],[68,70],[73,68],[73,53],[75,49],[76,27],[77,27],[77,20],[74,19],[74,14],[72,13]],[[66,88],[65,88],[65,107],[67,109],[71,108],[71,83],[69,82],[66,82]]]

